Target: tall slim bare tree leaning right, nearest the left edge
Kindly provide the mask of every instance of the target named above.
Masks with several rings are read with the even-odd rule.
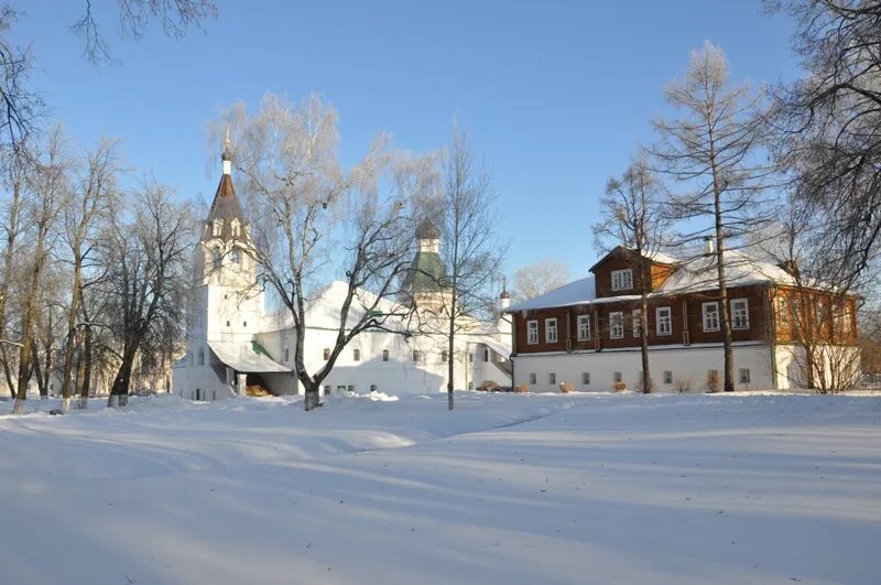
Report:
[[[32,229],[30,237],[33,246],[28,250],[29,260],[21,299],[21,348],[13,414],[21,414],[24,411],[24,401],[28,398],[28,387],[34,367],[34,326],[39,317],[41,286],[61,206],[69,188],[69,159],[59,129],[56,128],[47,138],[45,154],[34,159],[33,170],[25,178],[26,191],[23,199],[26,223]]]

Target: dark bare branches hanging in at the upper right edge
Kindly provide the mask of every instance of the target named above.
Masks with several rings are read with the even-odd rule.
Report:
[[[768,4],[795,18],[806,71],[777,91],[775,154],[793,180],[793,203],[822,227],[823,272],[849,288],[877,260],[881,236],[881,4]]]

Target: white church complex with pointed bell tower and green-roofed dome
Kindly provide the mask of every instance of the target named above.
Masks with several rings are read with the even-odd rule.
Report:
[[[231,161],[221,155],[224,174],[195,250],[196,282],[187,314],[186,355],[173,368],[172,391],[192,400],[219,400],[247,394],[296,394],[303,389],[293,375],[295,331],[290,314],[268,312],[264,293],[254,291],[258,269],[250,253],[249,226],[236,195]],[[405,280],[416,311],[443,304],[437,285],[443,277],[439,234],[424,221],[416,229],[418,251]],[[319,291],[306,312],[305,366],[324,367],[339,326],[339,306],[347,284],[335,281]],[[368,299],[369,291],[358,297]],[[392,304],[392,301],[389,301]],[[323,382],[322,393],[446,391],[449,359],[457,360],[454,388],[479,389],[486,382],[511,384],[511,323],[502,292],[498,318],[469,321],[456,336],[453,356],[440,335],[405,335],[406,324],[387,323],[392,331],[366,331],[352,339]],[[352,312],[358,308],[352,306]],[[352,317],[357,318],[357,317]]]

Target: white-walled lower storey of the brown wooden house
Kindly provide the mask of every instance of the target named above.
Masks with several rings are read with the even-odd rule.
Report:
[[[739,343],[733,347],[737,390],[785,390],[803,387],[804,376],[792,346]],[[629,390],[640,387],[642,357],[639,348],[602,351],[553,351],[512,356],[514,384],[531,392],[558,392],[562,382],[576,391],[610,391],[617,380]],[[703,392],[715,370],[721,381],[725,357],[721,344],[655,346],[649,351],[654,391]]]

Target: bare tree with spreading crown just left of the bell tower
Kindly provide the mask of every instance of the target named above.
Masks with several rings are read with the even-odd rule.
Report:
[[[168,187],[148,180],[133,195],[132,212],[117,209],[102,243],[108,271],[102,284],[119,368],[108,405],[128,403],[139,351],[167,327],[183,323],[195,221]]]

